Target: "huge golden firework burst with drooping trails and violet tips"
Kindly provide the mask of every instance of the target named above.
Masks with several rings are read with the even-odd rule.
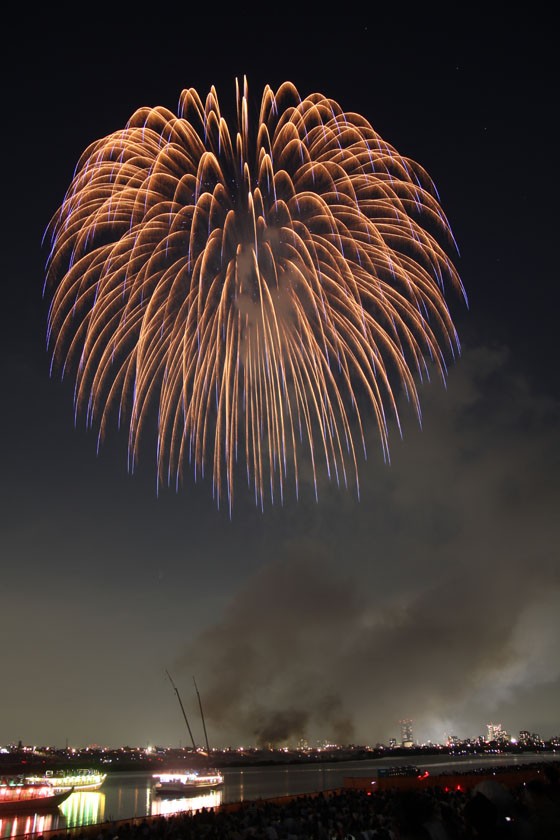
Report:
[[[211,473],[230,512],[240,467],[257,504],[296,494],[302,464],[358,484],[365,432],[459,342],[448,221],[426,171],[355,113],[290,82],[258,119],[236,81],[178,114],[140,108],[80,158],[47,229],[52,365],[76,412],[157,436],[158,482]],[[400,424],[399,424],[400,426]]]

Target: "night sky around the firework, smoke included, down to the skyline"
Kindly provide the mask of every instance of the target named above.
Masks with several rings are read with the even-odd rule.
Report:
[[[560,733],[557,62],[546,20],[165,11],[17,21],[5,37],[0,745],[418,741]],[[362,114],[434,179],[469,298],[361,496],[233,517],[208,482],[156,496],[153,453],[74,423],[49,376],[43,232],[89,143],[246,75]]]

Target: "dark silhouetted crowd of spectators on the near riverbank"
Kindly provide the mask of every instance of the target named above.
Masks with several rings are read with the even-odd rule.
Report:
[[[468,790],[341,790],[287,802],[235,807],[105,825],[96,833],[49,840],[560,840],[560,779],[515,788],[499,781]]]

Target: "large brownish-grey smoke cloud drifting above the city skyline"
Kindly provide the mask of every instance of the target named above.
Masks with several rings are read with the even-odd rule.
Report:
[[[220,743],[387,743],[402,718],[441,741],[497,715],[516,734],[560,692],[558,404],[483,348],[423,397],[423,430],[390,467],[371,457],[361,501],[325,485],[294,509],[176,663]]]

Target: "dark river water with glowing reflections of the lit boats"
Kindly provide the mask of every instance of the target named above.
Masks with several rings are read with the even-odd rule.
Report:
[[[348,776],[373,775],[379,767],[418,764],[432,775],[484,766],[519,765],[559,761],[559,753],[498,756],[411,756],[349,761],[333,764],[286,767],[226,768],[223,789],[188,799],[158,799],[152,796],[149,773],[109,773],[101,790],[73,793],[54,814],[0,817],[0,838],[38,835],[47,831],[96,825],[113,820],[212,808],[228,802],[251,802],[297,793],[313,793],[341,787]]]

